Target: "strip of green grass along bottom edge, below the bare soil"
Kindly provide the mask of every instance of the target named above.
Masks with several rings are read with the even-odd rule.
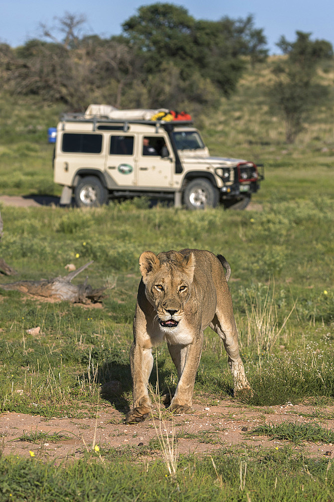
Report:
[[[103,452],[102,452],[103,453]],[[176,476],[162,461],[129,462],[115,451],[67,465],[36,458],[0,460],[0,501],[7,500],[332,500],[330,460],[305,459],[290,449],[179,459]],[[246,466],[246,469],[245,469]],[[240,471],[242,475],[240,476]],[[111,482],[112,480],[112,482]]]

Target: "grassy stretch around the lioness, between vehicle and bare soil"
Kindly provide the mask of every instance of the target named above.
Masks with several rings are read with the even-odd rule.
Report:
[[[116,286],[107,291],[103,309],[85,310],[0,290],[0,408],[76,417],[87,401],[96,404],[101,384],[121,375],[126,409],[138,257],[143,249],[185,246],[223,252],[231,264],[240,346],[256,391],[252,404],[333,397],[331,208],[324,204],[290,200],[264,203],[261,212],[200,214],[130,202],[92,211],[2,208],[2,256],[19,271],[15,280],[66,275],[66,264],[94,260],[89,283]],[[172,238],[170,228],[178,229]],[[40,335],[27,332],[37,326]],[[175,386],[164,346],[158,362],[161,388]],[[208,329],[195,390],[221,396],[230,388],[223,345]]]

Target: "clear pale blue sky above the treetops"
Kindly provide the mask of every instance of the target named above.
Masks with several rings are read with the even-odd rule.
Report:
[[[218,21],[254,16],[256,28],[262,28],[270,54],[281,35],[293,42],[295,32],[312,33],[311,39],[324,39],[334,46],[333,0],[165,0],[183,6],[195,19]],[[156,0],[0,0],[0,42],[11,47],[24,45],[29,39],[42,38],[40,24],[55,26],[55,18],[66,12],[85,15],[82,35],[109,38],[122,32],[122,23],[143,5]]]

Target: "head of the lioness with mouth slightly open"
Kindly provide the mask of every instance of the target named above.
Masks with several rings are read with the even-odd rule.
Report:
[[[160,326],[166,332],[176,328],[184,315],[184,305],[191,293],[195,258],[192,253],[145,251],[139,258],[145,294],[154,307]]]

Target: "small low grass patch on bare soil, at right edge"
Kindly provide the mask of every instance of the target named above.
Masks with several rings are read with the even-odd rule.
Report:
[[[248,433],[247,433],[248,434]],[[279,425],[260,425],[249,432],[256,436],[268,436],[272,439],[290,441],[295,445],[310,443],[334,443],[334,432],[319,424],[299,424],[284,422]]]

